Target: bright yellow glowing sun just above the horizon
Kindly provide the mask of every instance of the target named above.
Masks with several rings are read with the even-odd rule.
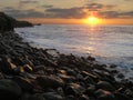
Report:
[[[92,26],[93,24],[99,24],[100,23],[100,19],[92,16],[92,17],[86,18],[84,20],[84,22],[88,23],[88,24],[92,24]]]

